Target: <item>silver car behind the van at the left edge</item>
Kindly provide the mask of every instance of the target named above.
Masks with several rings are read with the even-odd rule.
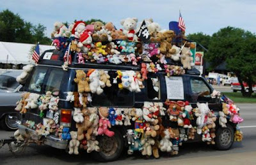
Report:
[[[20,114],[14,108],[23,90],[22,85],[16,81],[21,72],[8,71],[0,75],[0,126],[6,131],[18,128]]]

